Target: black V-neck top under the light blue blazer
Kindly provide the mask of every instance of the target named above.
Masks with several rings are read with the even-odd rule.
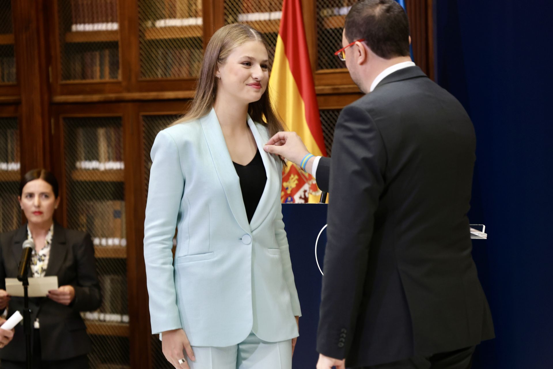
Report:
[[[261,153],[257,150],[255,156],[249,164],[241,165],[234,163],[234,169],[240,178],[240,188],[242,189],[242,198],[246,207],[248,222],[252,221],[253,213],[257,209],[257,204],[263,195],[265,183],[267,183],[267,173]]]

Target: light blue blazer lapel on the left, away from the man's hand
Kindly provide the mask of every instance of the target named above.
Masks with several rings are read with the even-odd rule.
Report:
[[[223,136],[215,109],[212,108],[207,116],[200,118],[200,121],[213,165],[215,165],[217,176],[223,186],[223,190],[225,190],[225,196],[228,205],[231,207],[232,215],[234,215],[238,225],[244,232],[250,233],[251,228],[248,223],[244,200],[242,199],[240,179],[238,178],[238,174],[236,174],[234,164],[232,164],[231,155],[228,153],[225,136]]]

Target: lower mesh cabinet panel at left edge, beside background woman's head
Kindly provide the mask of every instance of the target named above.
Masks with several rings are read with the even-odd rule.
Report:
[[[13,231],[21,224],[19,170],[17,118],[0,117],[0,233]]]

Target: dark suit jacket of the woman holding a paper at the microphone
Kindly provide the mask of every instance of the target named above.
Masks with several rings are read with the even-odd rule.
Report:
[[[0,289],[6,289],[5,278],[17,277],[24,240],[27,240],[27,225],[0,235]],[[58,276],[60,286],[72,285],[75,299],[69,306],[48,298],[30,299],[31,320],[34,322],[38,316],[40,321],[43,360],[64,360],[87,354],[91,343],[80,311],[96,310],[102,302],[90,235],[55,224],[46,276]],[[16,310],[23,310],[22,297],[12,297],[8,304],[8,315]],[[0,359],[25,360],[22,325],[15,327],[12,342],[0,349]]]

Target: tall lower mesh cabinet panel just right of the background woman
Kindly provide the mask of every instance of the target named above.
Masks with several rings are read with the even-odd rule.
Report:
[[[92,368],[129,367],[121,117],[63,117],[67,227],[90,233],[103,302],[82,313]]]

